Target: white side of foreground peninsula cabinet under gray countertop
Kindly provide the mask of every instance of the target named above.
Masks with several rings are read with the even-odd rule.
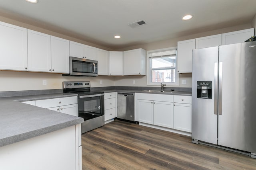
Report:
[[[73,125],[0,147],[0,169],[82,170],[80,129]]]

